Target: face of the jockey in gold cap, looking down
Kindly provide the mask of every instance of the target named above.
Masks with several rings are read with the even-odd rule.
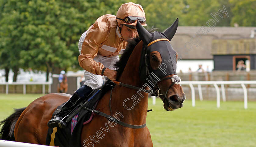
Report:
[[[134,38],[138,35],[138,32],[136,29],[132,29],[130,27],[126,27],[125,25],[120,25],[119,27],[121,28],[121,35],[123,36],[123,39],[125,41],[128,41],[131,38]]]

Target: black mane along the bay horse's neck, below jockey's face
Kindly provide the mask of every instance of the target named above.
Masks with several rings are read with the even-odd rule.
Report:
[[[130,39],[128,41],[128,44],[126,45],[126,49],[124,50],[122,56],[120,57],[119,61],[117,61],[115,64],[114,64],[114,67],[116,68],[117,70],[117,79],[119,79],[119,77],[121,76],[121,74],[123,73],[123,70],[126,66],[126,63],[128,61],[128,59],[130,58],[130,55],[132,54],[133,52],[133,49],[135,48],[135,46],[140,42],[140,38],[137,37],[137,38],[133,38],[133,39]]]

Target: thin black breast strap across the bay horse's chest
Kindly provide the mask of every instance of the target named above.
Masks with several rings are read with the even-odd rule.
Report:
[[[98,110],[92,110],[92,109],[89,109],[89,108],[86,108],[86,107],[84,107],[83,109],[86,109],[86,110],[91,111],[93,113],[99,114],[99,115],[101,115],[103,117],[106,117],[108,119],[113,119],[117,124],[120,124],[120,125],[122,125],[124,127],[129,127],[129,128],[133,128],[133,129],[140,129],[140,128],[144,128],[146,126],[146,124],[139,125],[139,126],[138,125],[132,125],[132,124],[126,124],[126,123],[124,123],[122,121],[119,121],[115,117],[112,117],[112,116],[110,116],[110,115],[108,115],[106,113],[100,112]]]

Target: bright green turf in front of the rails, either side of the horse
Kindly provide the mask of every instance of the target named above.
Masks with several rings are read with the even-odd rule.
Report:
[[[0,94],[0,120],[8,117],[13,108],[26,107],[42,94]],[[163,102],[149,99],[147,126],[154,146],[178,147],[241,147],[256,146],[256,102],[196,101],[192,107],[186,100],[183,108],[167,112]]]

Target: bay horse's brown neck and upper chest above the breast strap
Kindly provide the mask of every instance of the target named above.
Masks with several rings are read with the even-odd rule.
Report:
[[[142,88],[143,84],[139,79],[139,64],[142,51],[142,42],[140,42],[133,50],[123,74],[119,81],[124,84],[129,84]],[[119,87],[116,92],[116,101],[119,103],[116,106],[121,109],[124,122],[136,125],[146,123],[147,109],[148,109],[148,93],[138,91],[132,88]]]

